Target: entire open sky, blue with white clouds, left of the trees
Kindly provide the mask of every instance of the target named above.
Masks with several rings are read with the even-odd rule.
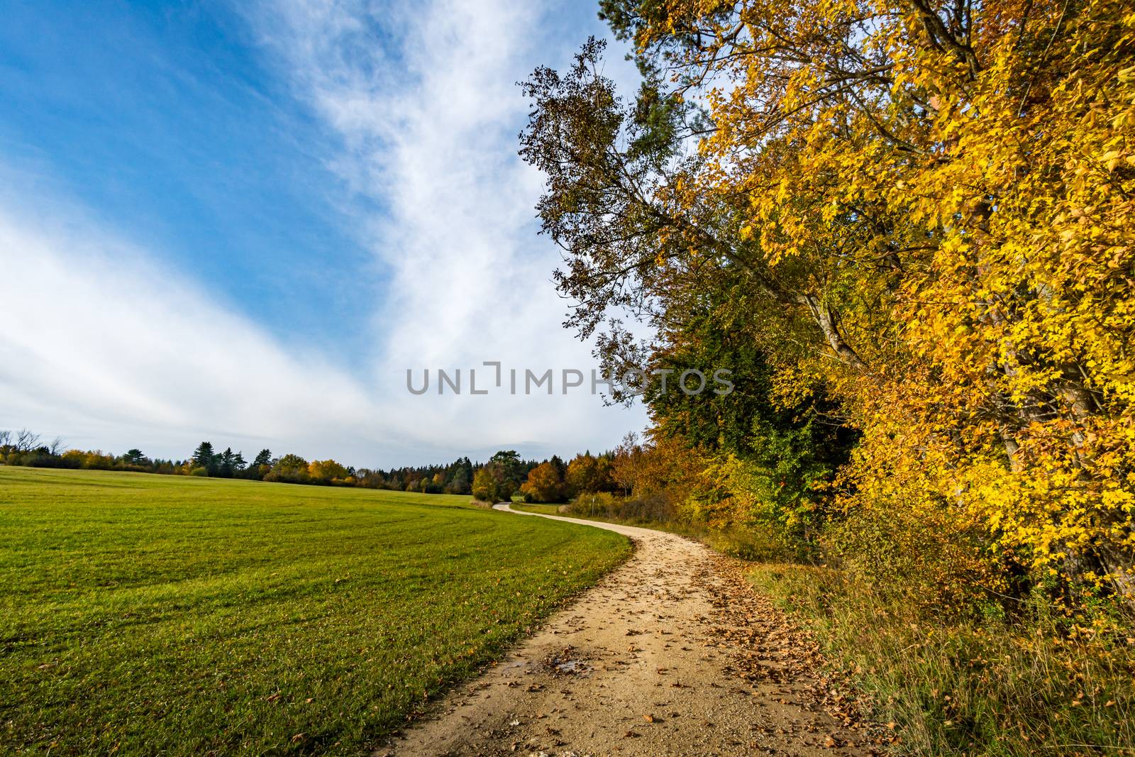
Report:
[[[0,428],[369,465],[640,428],[587,395],[404,389],[592,367],[558,327],[515,82],[603,33],[589,2],[6,3]]]

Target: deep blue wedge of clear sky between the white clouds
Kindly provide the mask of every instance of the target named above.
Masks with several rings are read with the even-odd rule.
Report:
[[[381,269],[337,204],[364,199],[327,170],[337,136],[272,74],[246,19],[220,2],[8,8],[10,165],[280,336],[351,339]]]

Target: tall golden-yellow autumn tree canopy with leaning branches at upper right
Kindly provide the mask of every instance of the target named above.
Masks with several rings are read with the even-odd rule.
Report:
[[[640,90],[620,100],[596,41],[538,69],[521,154],[547,177],[570,322],[605,363],[656,356],[612,305],[661,331],[732,292],[714,318],[777,390],[821,385],[861,432],[849,512],[978,535],[1074,604],[1129,599],[1129,8],[603,9]]]

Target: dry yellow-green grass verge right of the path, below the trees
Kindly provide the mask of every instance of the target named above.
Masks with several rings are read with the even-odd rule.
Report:
[[[1135,640],[1061,640],[1036,620],[915,617],[838,570],[757,564],[758,591],[810,626],[915,755],[1135,754]]]

